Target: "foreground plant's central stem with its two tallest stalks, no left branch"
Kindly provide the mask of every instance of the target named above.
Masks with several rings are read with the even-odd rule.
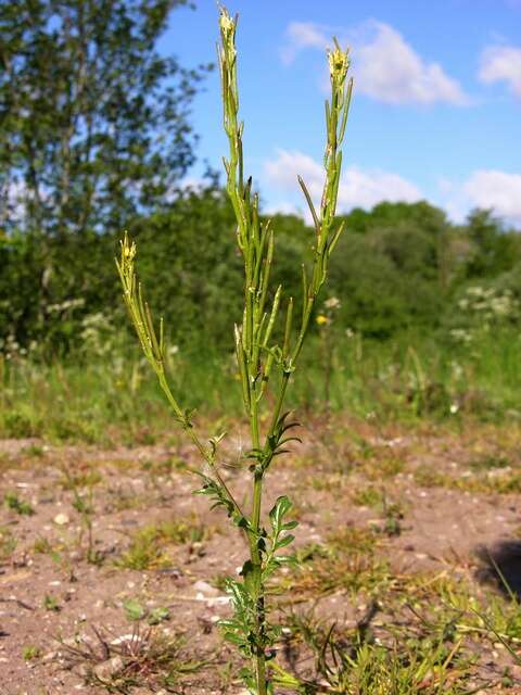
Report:
[[[317,294],[326,279],[329,254],[331,253],[340,230],[331,238],[331,226],[334,218],[339,176],[341,168],[341,152],[338,148],[342,142],[347,116],[348,96],[351,87],[345,90],[345,76],[348,67],[347,53],[342,52],[335,41],[335,48],[329,53],[332,98],[326,103],[326,123],[328,142],[325,155],[326,184],[317,215],[305,184],[300,179],[304,194],[309,204],[316,227],[315,257],[309,287],[306,273],[303,273],[304,311],[301,329],[296,343],[291,349],[293,301],[290,300],[287,313],[285,334],[283,346],[270,343],[271,329],[277,318],[280,300],[280,288],[277,290],[271,312],[266,311],[266,298],[269,289],[269,273],[274,253],[274,237],[268,232],[268,226],[259,220],[258,195],[252,195],[252,180],[244,181],[242,131],[243,124],[238,121],[239,91],[237,80],[237,50],[236,28],[237,17],[232,18],[225,8],[220,9],[219,17],[221,43],[218,49],[223,104],[224,127],[228,136],[229,159],[224,161],[227,173],[227,190],[237,219],[238,245],[244,260],[244,314],[242,325],[236,326],[236,349],[244,409],[250,419],[252,459],[256,463],[253,469],[253,507],[250,518],[247,536],[251,556],[251,579],[246,590],[254,601],[254,634],[249,634],[247,642],[253,645],[253,670],[256,681],[256,695],[266,695],[266,654],[267,639],[265,587],[263,585],[263,552],[259,544],[262,534],[260,515],[263,502],[263,482],[274,455],[277,441],[284,431],[284,419],[281,419],[288,383],[295,363],[301,353]],[[339,121],[340,118],[340,121]],[[278,353],[276,352],[276,349]],[[269,354],[268,354],[269,353]],[[260,446],[258,402],[263,396],[266,382],[269,379],[271,365],[279,365],[281,381],[277,401],[271,415],[265,443]],[[181,422],[183,419],[181,418]],[[288,429],[285,427],[285,429]],[[193,434],[192,434],[193,439]],[[275,444],[274,444],[275,442]],[[198,445],[198,442],[194,441]],[[204,448],[200,448],[201,453]],[[280,452],[279,452],[280,453]],[[217,475],[217,473],[216,473]],[[220,482],[220,480],[219,480]],[[224,483],[223,483],[224,485]],[[225,488],[226,490],[226,488]],[[247,646],[252,654],[251,646]]]

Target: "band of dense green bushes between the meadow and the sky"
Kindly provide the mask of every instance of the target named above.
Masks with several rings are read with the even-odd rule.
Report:
[[[345,215],[345,232],[329,264],[329,293],[342,298],[336,327],[378,340],[395,339],[404,330],[467,331],[486,318],[480,308],[469,313],[461,304],[470,299],[475,306],[472,288],[510,303],[512,312],[496,314],[494,326],[517,325],[519,232],[491,218],[481,247],[475,215],[461,227],[427,203],[385,203]],[[241,320],[243,279],[225,192],[208,181],[203,190],[180,193],[167,211],[136,218],[129,228],[140,247],[140,278],[150,303],[164,316],[169,344],[182,351],[212,336],[220,355],[232,350],[227,326]],[[313,258],[314,232],[291,215],[277,215],[272,228],[279,250],[274,287],[281,285],[295,298],[293,313],[298,316],[298,264]],[[115,249],[110,232],[86,231],[62,240],[36,232],[0,237],[2,352],[33,359],[71,352],[91,359],[120,352],[126,337],[116,330],[123,312],[111,261]],[[486,266],[491,254],[504,261]],[[282,329],[274,330],[278,336]]]

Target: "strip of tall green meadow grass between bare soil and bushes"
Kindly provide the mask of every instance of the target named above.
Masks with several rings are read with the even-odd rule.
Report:
[[[411,344],[428,375],[421,406],[416,369],[407,357]],[[302,355],[305,376],[295,380],[289,394],[291,407],[323,410],[325,375],[320,361],[314,358],[317,350],[312,338]],[[331,375],[332,412],[347,410],[382,425],[445,421],[458,428],[469,418],[496,425],[521,420],[518,333],[503,332],[496,340],[485,336],[472,351],[418,336],[386,343],[361,341],[360,350],[353,339],[340,336],[335,350],[339,367]],[[190,369],[183,363],[190,363]],[[125,370],[124,364],[128,365]],[[147,365],[131,350],[104,361],[78,363],[73,356],[50,365],[18,361],[2,374],[2,438],[104,445],[153,444],[165,435],[178,439],[171,434],[169,410]],[[204,403],[209,418],[220,420],[218,429],[227,429],[241,413],[240,392],[230,388],[233,375],[228,354],[194,345],[179,356],[174,381],[179,399],[195,408]],[[434,384],[445,394],[440,402],[427,395]],[[27,450],[35,459],[43,453],[38,444]],[[399,466],[399,462],[390,465]]]

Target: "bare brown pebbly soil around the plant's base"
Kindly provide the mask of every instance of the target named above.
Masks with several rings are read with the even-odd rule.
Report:
[[[382,539],[378,556],[390,564],[393,577],[461,579],[478,596],[486,570],[475,551],[494,551],[503,543],[512,553],[501,567],[512,585],[521,582],[521,551],[516,557],[521,496],[500,484],[501,477],[521,472],[519,440],[511,430],[377,430],[317,418],[307,420],[301,435],[304,444],[269,471],[265,497],[265,509],[280,494],[294,501],[300,547],[327,543],[343,529],[377,529]],[[231,465],[224,467],[224,476],[247,506],[249,477],[240,455],[241,438],[228,439],[225,460]],[[216,628],[228,612],[217,578],[236,573],[247,549],[226,517],[209,511],[207,500],[192,494],[196,480],[185,469],[187,464],[196,466],[196,458],[181,440],[111,451],[0,442],[0,500],[14,495],[34,510],[21,514],[13,504],[0,508],[1,695],[104,694],[110,691],[102,682],[110,680],[114,659],[112,652],[103,655],[106,645],[160,637],[179,637],[180,662],[207,662],[180,677],[176,692],[242,691],[228,671],[228,665],[238,666],[237,657]],[[91,490],[98,564],[87,560],[88,533],[64,470],[76,477],[84,500]],[[380,504],[371,504],[371,494],[380,495]],[[390,518],[396,528],[386,533]],[[165,542],[149,569],[122,567],[140,529],[171,519],[186,520],[200,535]],[[481,555],[486,557],[486,552]],[[291,590],[291,577],[285,581]],[[129,617],[132,601],[145,612],[140,622]],[[312,605],[325,619],[355,626],[367,611],[368,596],[342,587],[310,596],[295,583],[285,603],[280,599],[284,615],[305,612]],[[150,628],[149,634],[148,617],[154,608],[168,609],[169,619]],[[395,614],[380,606],[380,621],[394,619]],[[90,660],[84,654],[88,645],[96,654]],[[481,644],[476,653],[475,682],[488,683],[482,692],[521,693],[520,667],[501,644]],[[500,685],[506,666],[513,678],[508,687]],[[99,684],[92,682],[92,669]],[[138,695],[167,692],[154,683],[153,666],[143,664],[139,675],[147,677],[147,684],[132,691]]]

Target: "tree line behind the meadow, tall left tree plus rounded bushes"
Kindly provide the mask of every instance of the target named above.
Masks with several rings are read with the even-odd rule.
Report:
[[[232,212],[215,175],[179,188],[196,153],[191,106],[212,66],[187,68],[157,49],[185,4],[0,0],[3,352],[64,354],[96,326],[125,330],[113,265],[125,228],[170,339],[230,348],[242,292]],[[292,215],[272,222],[276,279],[300,296],[294,268],[313,230]],[[384,340],[459,329],[465,313],[517,320],[520,236],[491,211],[454,225],[427,202],[381,203],[344,222],[329,286],[343,330]]]

